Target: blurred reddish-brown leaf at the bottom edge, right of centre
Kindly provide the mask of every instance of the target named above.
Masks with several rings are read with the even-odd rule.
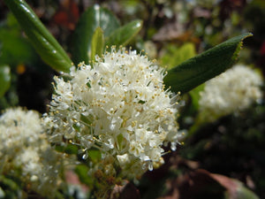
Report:
[[[226,197],[228,199],[258,199],[239,180],[201,169],[186,172],[175,180],[168,180],[166,187],[169,191],[167,195],[162,197],[163,199],[223,199]]]

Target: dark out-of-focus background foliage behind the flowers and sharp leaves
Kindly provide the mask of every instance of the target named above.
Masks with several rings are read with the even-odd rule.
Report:
[[[99,4],[113,12],[121,24],[143,20],[140,34],[130,46],[146,50],[159,65],[174,67],[233,36],[251,32],[254,36],[246,38],[239,63],[256,68],[263,76],[265,73],[264,0],[28,0],[27,3],[70,57],[71,38],[79,17],[89,6]],[[52,94],[50,82],[56,72],[36,54],[3,1],[0,1],[0,65],[11,67],[10,87],[0,97],[1,111],[11,106],[47,111]],[[180,129],[188,130],[198,107],[191,94],[183,99],[186,105],[178,122]],[[165,155],[165,165],[143,177],[137,185],[141,198],[224,198],[225,193],[241,188],[233,187],[231,179],[239,180],[265,198],[264,117],[263,96],[262,102],[246,111],[201,126],[178,152]]]

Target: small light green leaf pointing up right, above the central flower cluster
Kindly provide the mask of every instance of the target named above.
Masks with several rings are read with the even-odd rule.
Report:
[[[109,46],[125,46],[133,39],[136,34],[139,33],[141,27],[142,20],[133,20],[131,23],[117,28],[112,34],[110,34],[110,36],[106,38],[106,44]]]

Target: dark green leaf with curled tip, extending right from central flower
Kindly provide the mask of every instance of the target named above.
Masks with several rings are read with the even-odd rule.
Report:
[[[175,92],[186,93],[223,73],[235,63],[243,40],[251,35],[247,33],[233,37],[172,68],[164,79],[166,86]]]

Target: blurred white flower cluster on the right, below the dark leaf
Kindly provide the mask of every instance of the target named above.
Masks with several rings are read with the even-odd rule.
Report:
[[[241,111],[261,100],[262,78],[246,65],[235,65],[208,80],[200,93],[200,111],[207,121]]]

